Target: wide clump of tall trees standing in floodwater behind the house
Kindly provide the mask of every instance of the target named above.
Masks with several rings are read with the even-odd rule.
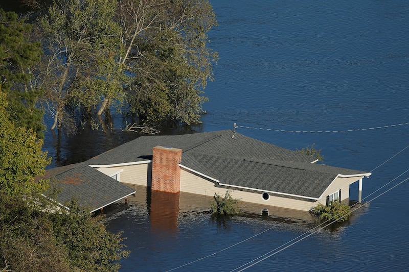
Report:
[[[140,123],[200,122],[217,60],[208,0],[57,0],[38,22],[51,129],[110,105]]]

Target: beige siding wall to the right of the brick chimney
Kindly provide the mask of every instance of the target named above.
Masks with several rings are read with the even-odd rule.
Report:
[[[215,187],[216,182],[209,181],[205,178],[194,174],[191,171],[186,169],[181,169],[180,171],[180,191],[188,192],[188,193],[195,193],[195,194],[202,194],[202,195],[210,195],[213,196],[214,193],[219,193],[224,195],[226,189]],[[268,200],[263,200],[262,193],[253,193],[253,192],[246,192],[246,191],[239,191],[235,190],[234,188],[230,189],[232,197],[236,199],[240,199],[243,202],[250,202],[250,203],[257,203],[260,205],[265,206],[272,206],[272,207],[281,207],[281,208],[290,208],[295,210],[302,210],[308,211],[310,210],[315,204],[313,202],[301,201],[301,200],[294,200],[288,199],[286,197],[278,197],[270,195]]]

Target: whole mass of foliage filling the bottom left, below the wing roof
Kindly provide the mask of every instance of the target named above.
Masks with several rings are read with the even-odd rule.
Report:
[[[61,213],[36,207],[19,196],[2,196],[0,271],[118,271],[118,260],[128,256],[121,234],[108,232],[102,216],[81,212],[74,203]]]

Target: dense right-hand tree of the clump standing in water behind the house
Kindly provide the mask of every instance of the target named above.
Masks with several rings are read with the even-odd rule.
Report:
[[[143,122],[199,122],[207,100],[203,88],[218,58],[207,47],[207,32],[217,24],[212,6],[207,0],[126,0],[122,5],[122,26],[145,22],[128,35],[124,51],[133,76],[127,89],[130,111]],[[128,7],[138,12],[130,16],[124,12]]]

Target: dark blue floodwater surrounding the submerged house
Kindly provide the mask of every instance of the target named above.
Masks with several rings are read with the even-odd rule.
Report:
[[[406,270],[409,2],[212,4],[219,26],[209,45],[220,60],[206,88],[208,114],[200,126],[164,133],[236,122],[238,132],[288,149],[315,143],[324,163],[373,172],[363,180],[368,205],[301,240],[317,226],[307,212],[242,204],[243,214],[213,220],[211,196],[139,187],[106,210],[108,229],[123,231],[131,251],[121,271]],[[118,118],[107,132],[47,132],[44,149],[53,166],[83,161],[138,136],[121,126]],[[352,186],[352,199],[357,192]]]

